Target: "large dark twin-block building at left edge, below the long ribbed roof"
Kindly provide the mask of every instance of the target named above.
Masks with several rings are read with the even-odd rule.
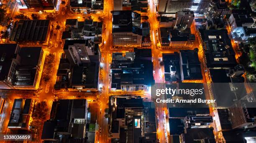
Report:
[[[0,80],[9,80],[13,86],[33,86],[37,69],[40,68],[42,47],[22,47],[18,44],[0,44]],[[15,62],[12,78],[7,79],[12,62]]]

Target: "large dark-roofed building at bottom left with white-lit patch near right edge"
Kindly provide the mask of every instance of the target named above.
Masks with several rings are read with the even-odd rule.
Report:
[[[84,140],[83,134],[87,119],[87,101],[85,99],[62,99],[54,101],[51,107],[50,120],[44,122],[41,139],[54,140],[58,132],[60,138],[66,138],[72,142],[72,138],[64,135],[71,134],[77,140]],[[79,121],[77,121],[79,119]],[[79,122],[79,123],[78,123]],[[91,139],[91,138],[89,138]]]

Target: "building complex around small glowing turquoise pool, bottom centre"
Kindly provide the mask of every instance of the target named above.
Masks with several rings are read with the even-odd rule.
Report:
[[[110,96],[111,143],[156,143],[155,110],[151,105],[138,96]]]

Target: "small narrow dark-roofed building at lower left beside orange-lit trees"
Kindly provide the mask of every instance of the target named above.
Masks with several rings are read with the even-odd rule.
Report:
[[[8,128],[28,129],[33,106],[33,99],[15,99],[8,123]]]

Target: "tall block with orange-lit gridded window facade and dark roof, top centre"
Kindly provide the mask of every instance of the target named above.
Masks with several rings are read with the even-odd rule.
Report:
[[[141,47],[141,15],[130,10],[113,11],[113,47]]]

